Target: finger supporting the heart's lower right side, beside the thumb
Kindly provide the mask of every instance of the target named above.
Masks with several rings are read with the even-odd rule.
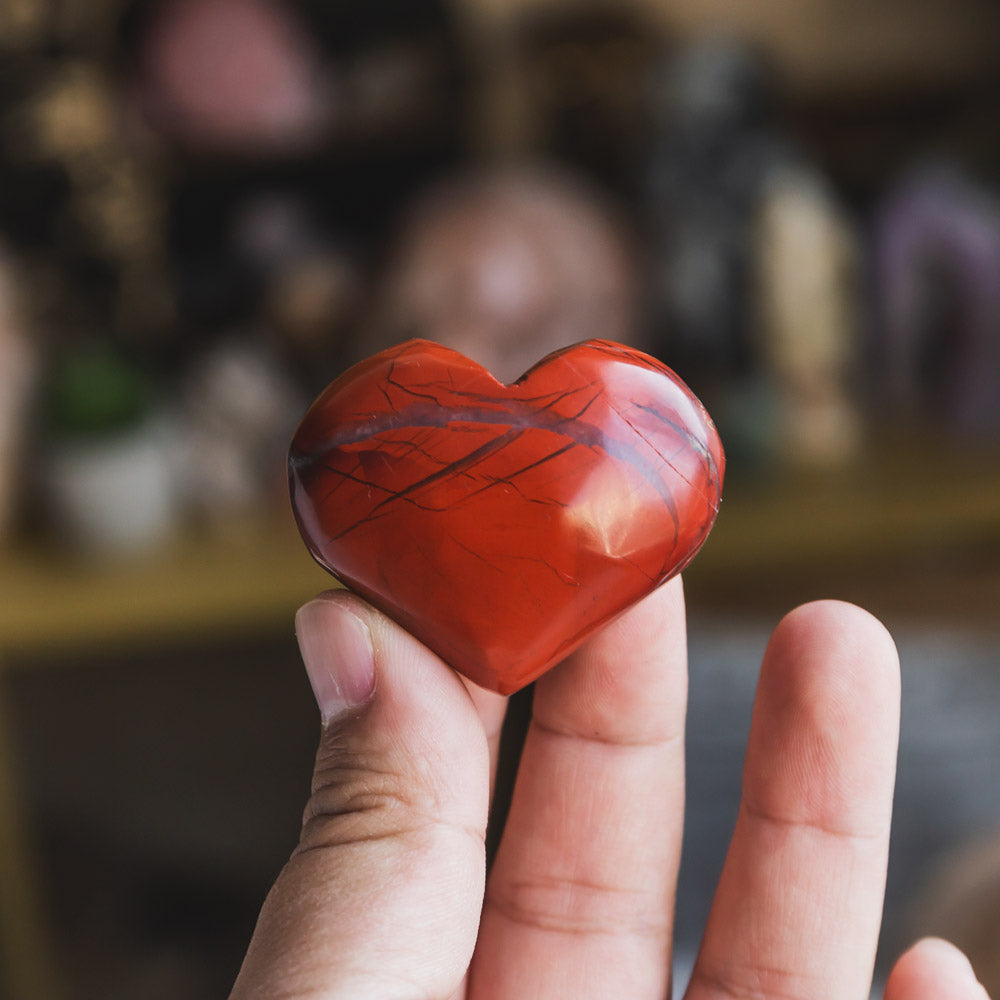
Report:
[[[666,995],[686,696],[679,579],[539,680],[475,1000]]]

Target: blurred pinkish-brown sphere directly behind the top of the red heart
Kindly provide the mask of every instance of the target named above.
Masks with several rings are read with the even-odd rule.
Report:
[[[592,337],[636,346],[623,226],[575,178],[502,168],[444,184],[396,246],[364,353],[409,337],[453,347],[502,380]]]

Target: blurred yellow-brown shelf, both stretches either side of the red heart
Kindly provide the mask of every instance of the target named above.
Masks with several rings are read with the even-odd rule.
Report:
[[[832,590],[892,612],[1000,616],[1000,456],[927,461],[893,449],[850,472],[733,474],[685,574],[692,606],[753,611]],[[0,553],[0,653],[291,628],[331,585],[290,516],[103,564],[13,548]]]

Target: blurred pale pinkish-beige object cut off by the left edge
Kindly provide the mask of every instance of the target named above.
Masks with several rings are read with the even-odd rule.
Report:
[[[0,254],[0,538],[11,529],[23,485],[28,408],[37,374],[15,285],[12,266]]]

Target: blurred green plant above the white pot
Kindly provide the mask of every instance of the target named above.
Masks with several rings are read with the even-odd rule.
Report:
[[[58,437],[106,437],[141,424],[154,398],[152,380],[139,365],[109,344],[93,344],[56,362],[43,417]]]

